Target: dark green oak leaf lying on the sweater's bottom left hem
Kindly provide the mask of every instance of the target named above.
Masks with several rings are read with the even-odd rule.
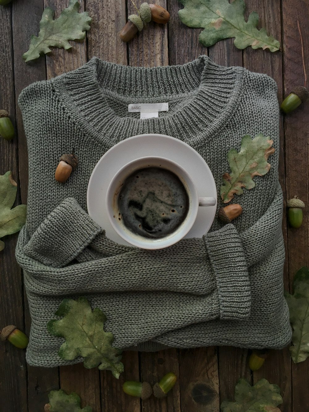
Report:
[[[98,366],[100,370],[111,370],[118,379],[124,369],[120,362],[121,351],[112,346],[112,333],[103,329],[106,316],[101,309],[92,311],[85,297],[64,299],[55,315],[63,318],[49,321],[47,330],[54,336],[66,339],[58,352],[60,358],[72,361],[82,356],[85,368]]]

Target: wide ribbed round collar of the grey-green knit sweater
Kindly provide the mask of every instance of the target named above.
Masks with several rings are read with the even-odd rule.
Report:
[[[198,146],[234,114],[244,73],[241,67],[218,66],[207,56],[155,68],[121,66],[94,57],[52,83],[68,115],[106,148],[142,133],[169,134]],[[151,119],[119,115],[130,103],[159,102],[169,102],[172,110]]]

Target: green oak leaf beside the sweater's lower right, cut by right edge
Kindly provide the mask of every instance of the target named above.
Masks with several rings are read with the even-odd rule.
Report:
[[[284,293],[293,326],[291,358],[295,363],[309,356],[309,269],[301,267],[293,279],[293,295]]]

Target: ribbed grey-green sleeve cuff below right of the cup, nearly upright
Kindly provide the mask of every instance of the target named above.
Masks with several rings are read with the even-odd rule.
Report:
[[[218,288],[220,318],[244,319],[250,315],[251,291],[239,234],[229,224],[204,236]]]

